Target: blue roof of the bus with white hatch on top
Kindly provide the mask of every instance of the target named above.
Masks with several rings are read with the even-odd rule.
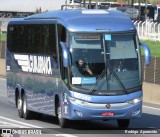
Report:
[[[35,14],[14,22],[28,22],[41,20],[57,20],[72,32],[119,32],[132,31],[135,26],[128,16],[114,10],[57,10]],[[18,23],[18,24],[19,24]]]

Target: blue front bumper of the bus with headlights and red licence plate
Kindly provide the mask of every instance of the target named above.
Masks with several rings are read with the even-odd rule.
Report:
[[[89,103],[69,99],[63,105],[63,116],[72,120],[110,120],[140,118],[142,113],[142,100],[138,98],[124,103]]]

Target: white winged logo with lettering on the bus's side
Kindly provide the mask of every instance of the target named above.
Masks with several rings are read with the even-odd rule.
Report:
[[[14,54],[22,71],[52,75],[51,58],[48,56]]]

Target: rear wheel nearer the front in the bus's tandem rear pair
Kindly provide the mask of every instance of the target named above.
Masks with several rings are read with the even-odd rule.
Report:
[[[26,96],[23,95],[23,103],[22,103],[23,107],[23,118],[24,119],[31,119],[32,118],[32,113],[31,111],[27,110],[27,99]]]

